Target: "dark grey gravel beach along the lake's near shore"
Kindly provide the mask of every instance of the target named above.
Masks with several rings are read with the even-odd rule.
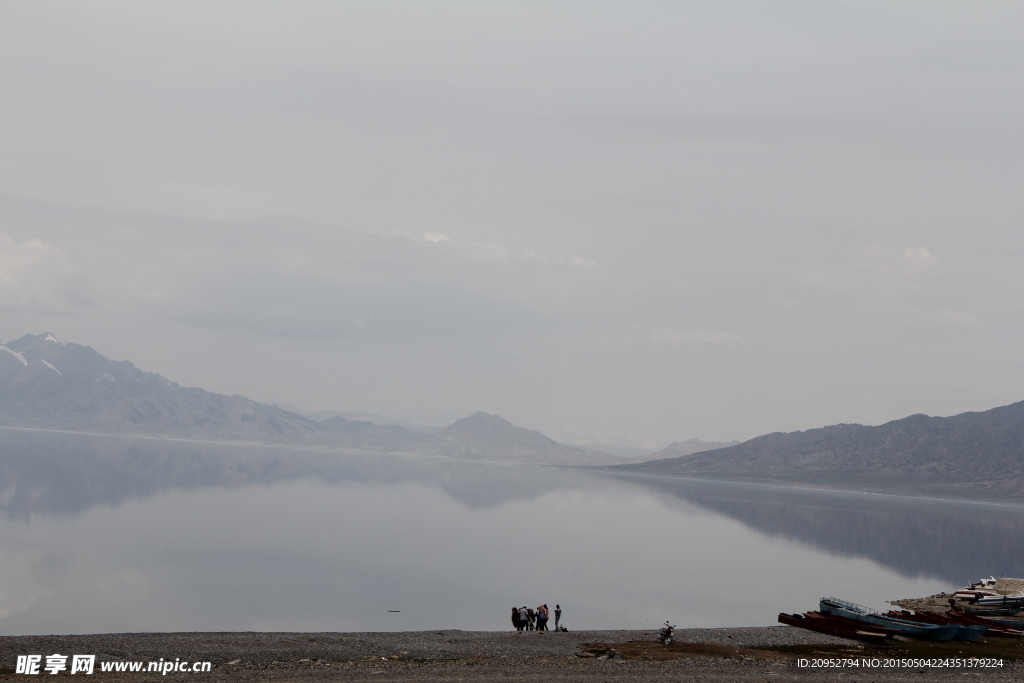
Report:
[[[800,658],[882,656],[859,643],[790,627],[523,633],[167,633],[0,638],[2,678],[17,655],[95,654],[93,677],[125,681],[915,681],[1020,680],[1024,667],[870,670],[799,666]],[[766,649],[767,648],[767,649]],[[968,657],[971,652],[965,652]],[[100,672],[103,661],[211,661],[209,673]],[[46,672],[42,672],[46,675]],[[67,675],[68,672],[61,672]]]

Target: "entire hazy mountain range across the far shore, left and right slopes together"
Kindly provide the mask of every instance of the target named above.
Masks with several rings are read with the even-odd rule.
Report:
[[[50,333],[0,344],[0,426],[596,466],[623,473],[860,490],[1024,495],[1024,401],[945,418],[912,415],[877,427],[839,424],[775,432],[742,443],[690,439],[653,454],[566,445],[486,413],[444,428],[345,415],[353,414],[323,413],[317,421],[245,396],[182,387]]]

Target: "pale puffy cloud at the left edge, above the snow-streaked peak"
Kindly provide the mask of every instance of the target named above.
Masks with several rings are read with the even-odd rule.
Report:
[[[88,303],[89,289],[82,269],[53,245],[0,234],[0,308],[67,311]]]

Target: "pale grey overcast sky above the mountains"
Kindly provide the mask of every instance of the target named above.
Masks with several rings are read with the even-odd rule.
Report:
[[[0,5],[0,339],[653,447],[1024,399],[1024,5]]]

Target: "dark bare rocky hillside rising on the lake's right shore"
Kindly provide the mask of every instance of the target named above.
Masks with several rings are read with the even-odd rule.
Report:
[[[616,469],[876,489],[1024,493],[1024,401],[878,427],[841,424]]]

